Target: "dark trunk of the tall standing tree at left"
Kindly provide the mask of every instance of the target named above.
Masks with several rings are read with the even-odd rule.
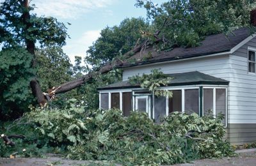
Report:
[[[29,0],[24,0],[24,8],[28,9],[29,8]],[[29,22],[29,20],[31,19],[30,14],[29,14],[29,10],[24,10],[23,14],[22,14],[22,20],[23,23],[25,25],[25,31],[28,33],[28,29],[30,27],[33,27],[33,25],[31,24],[31,22]],[[36,60],[35,60],[35,40],[31,40],[31,38],[26,38],[26,47],[28,52],[33,56],[33,60],[31,63],[31,66],[33,68],[36,67]],[[37,102],[39,105],[43,106],[46,102],[44,94],[42,93],[42,89],[40,87],[40,84],[38,82],[38,80],[36,80],[36,78],[32,79],[30,81],[30,87],[32,90],[33,95],[36,97]]]

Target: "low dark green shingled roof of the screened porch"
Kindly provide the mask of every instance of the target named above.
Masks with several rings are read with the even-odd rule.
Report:
[[[187,73],[174,73],[167,74],[173,79],[168,84],[168,86],[184,86],[184,85],[228,85],[227,80],[223,80],[217,77],[212,77],[205,73],[200,72],[187,72]],[[99,87],[98,90],[107,90],[107,89],[129,89],[140,87],[140,85],[132,85],[129,81],[116,82],[114,84],[109,84],[105,87]]]

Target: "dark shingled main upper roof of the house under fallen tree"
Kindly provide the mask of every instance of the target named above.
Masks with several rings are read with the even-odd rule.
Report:
[[[122,66],[117,68],[124,68],[129,66],[137,66],[140,64],[150,64],[163,61],[172,61],[177,59],[186,59],[189,57],[205,56],[209,54],[216,54],[220,52],[228,52],[234,48],[237,44],[241,43],[244,39],[250,36],[250,30],[247,28],[236,29],[227,36],[225,34],[213,34],[206,36],[205,40],[201,42],[198,47],[183,48],[177,47],[170,51],[161,51],[157,53],[152,47],[147,48],[145,51],[137,52],[129,59],[136,59],[136,63],[129,63],[125,61]],[[147,61],[143,60],[144,56],[148,55],[148,52],[152,55]]]

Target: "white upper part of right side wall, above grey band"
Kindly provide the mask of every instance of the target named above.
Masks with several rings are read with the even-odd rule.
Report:
[[[256,74],[248,73],[248,47],[256,49],[255,38],[230,56],[230,123],[256,123]]]

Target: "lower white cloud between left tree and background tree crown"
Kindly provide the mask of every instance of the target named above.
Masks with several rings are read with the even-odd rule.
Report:
[[[70,61],[74,64],[75,56],[86,56],[86,50],[90,47],[93,41],[100,36],[100,30],[86,31],[80,38],[67,40],[67,45],[63,47],[64,52],[69,56]]]

